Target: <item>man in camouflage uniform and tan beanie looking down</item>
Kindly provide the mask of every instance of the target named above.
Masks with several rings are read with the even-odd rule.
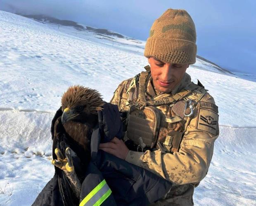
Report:
[[[111,99],[128,112],[126,144],[114,138],[100,148],[173,183],[156,205],[194,205],[194,187],[207,174],[219,134],[218,107],[186,73],[196,61],[195,42],[190,15],[166,10],[146,42],[147,72],[121,82]]]

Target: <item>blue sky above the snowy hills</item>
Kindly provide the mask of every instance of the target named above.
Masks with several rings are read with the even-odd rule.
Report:
[[[197,29],[197,54],[223,68],[256,74],[255,0],[0,0],[0,9],[47,14],[146,40],[168,8],[185,9]]]

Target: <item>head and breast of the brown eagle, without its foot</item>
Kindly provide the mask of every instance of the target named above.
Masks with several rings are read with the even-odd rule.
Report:
[[[97,90],[79,85],[69,87],[62,96],[64,129],[85,150],[90,149],[88,135],[97,124],[97,111],[103,104]]]

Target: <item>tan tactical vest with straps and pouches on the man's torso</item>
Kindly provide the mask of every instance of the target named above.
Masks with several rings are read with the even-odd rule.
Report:
[[[131,140],[135,150],[161,150],[178,152],[186,122],[194,114],[194,108],[207,90],[199,82],[191,82],[177,94],[159,94],[147,99],[145,94],[150,77],[142,72],[129,80],[121,94],[128,112],[125,140]],[[130,148],[129,148],[130,149]],[[134,149],[133,149],[134,150]]]

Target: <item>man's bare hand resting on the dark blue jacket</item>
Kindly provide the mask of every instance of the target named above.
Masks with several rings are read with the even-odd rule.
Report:
[[[129,152],[129,149],[126,147],[125,143],[116,137],[114,137],[111,142],[100,144],[99,149],[121,159],[126,159],[126,155]]]

